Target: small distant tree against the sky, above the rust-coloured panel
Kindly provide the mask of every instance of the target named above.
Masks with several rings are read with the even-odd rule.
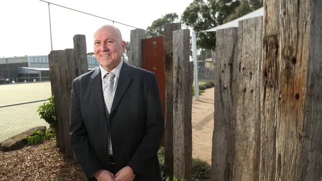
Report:
[[[164,25],[167,23],[174,23],[178,20],[178,15],[177,13],[168,13],[165,14],[164,16],[162,16],[159,19],[156,19],[152,22],[151,26],[149,26],[147,28],[147,30],[151,31],[151,32],[156,32],[159,35],[163,35],[163,28]]]

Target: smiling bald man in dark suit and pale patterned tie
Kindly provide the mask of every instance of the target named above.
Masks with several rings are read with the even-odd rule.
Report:
[[[160,181],[163,118],[154,73],[127,65],[120,31],[94,34],[100,67],[73,80],[69,134],[88,180]]]

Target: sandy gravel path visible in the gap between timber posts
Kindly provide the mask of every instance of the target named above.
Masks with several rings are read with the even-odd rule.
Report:
[[[211,164],[214,131],[214,93],[210,88],[192,100],[192,157]]]

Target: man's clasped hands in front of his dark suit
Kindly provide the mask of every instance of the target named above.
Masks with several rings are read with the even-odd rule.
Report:
[[[135,178],[131,167],[126,166],[119,170],[115,176],[107,170],[100,170],[94,174],[98,181],[133,181]]]

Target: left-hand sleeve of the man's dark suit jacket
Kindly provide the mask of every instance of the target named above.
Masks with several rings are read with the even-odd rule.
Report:
[[[80,83],[73,80],[70,104],[69,135],[71,147],[77,161],[82,167],[87,178],[91,178],[97,171],[103,169],[95,152],[93,151],[87,136],[80,106]]]

